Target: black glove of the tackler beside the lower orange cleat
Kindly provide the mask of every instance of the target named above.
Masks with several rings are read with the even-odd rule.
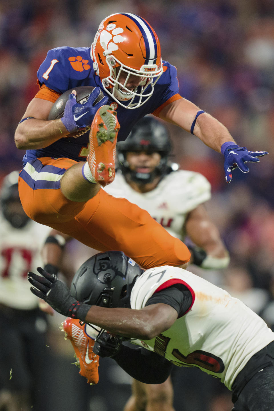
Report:
[[[121,349],[122,341],[128,338],[111,335],[109,332],[101,330],[94,342],[92,351],[99,357],[113,357]]]

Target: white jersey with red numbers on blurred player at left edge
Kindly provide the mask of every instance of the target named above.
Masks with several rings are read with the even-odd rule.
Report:
[[[15,229],[0,213],[0,303],[16,309],[37,307],[30,291],[28,271],[41,266],[41,247],[50,227],[30,220]]]

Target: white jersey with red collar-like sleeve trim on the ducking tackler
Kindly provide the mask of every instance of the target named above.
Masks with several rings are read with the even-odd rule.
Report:
[[[227,291],[177,267],[152,268],[138,277],[131,291],[131,308],[145,307],[159,286],[165,288],[163,284],[174,283],[190,289],[191,309],[157,337],[131,342],[157,352],[175,365],[199,367],[231,390],[237,374],[253,354],[274,341],[274,332]]]

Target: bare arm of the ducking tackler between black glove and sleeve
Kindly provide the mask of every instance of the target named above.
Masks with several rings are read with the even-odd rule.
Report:
[[[92,305],[85,321],[123,337],[152,339],[170,328],[177,316],[177,311],[166,304],[149,305],[143,309]]]

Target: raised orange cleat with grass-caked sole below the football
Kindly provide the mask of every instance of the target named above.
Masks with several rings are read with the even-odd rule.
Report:
[[[90,128],[90,153],[87,162],[92,176],[103,187],[115,178],[115,152],[120,124],[111,106],[101,106]]]

